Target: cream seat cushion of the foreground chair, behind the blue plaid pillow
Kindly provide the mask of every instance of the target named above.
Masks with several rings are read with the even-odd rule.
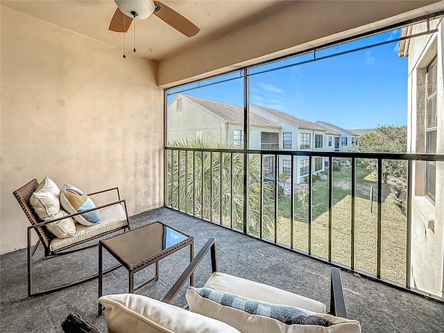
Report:
[[[326,309],[325,304],[317,300],[220,272],[214,272],[205,283],[204,288],[234,293],[234,295],[273,304],[291,305],[318,313],[325,314]]]

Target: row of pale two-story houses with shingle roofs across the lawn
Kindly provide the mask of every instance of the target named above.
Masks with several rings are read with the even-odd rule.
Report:
[[[305,121],[277,110],[250,105],[250,149],[289,151],[334,151],[334,130]],[[168,105],[168,140],[185,137],[212,137],[233,142],[242,148],[244,142],[244,109],[227,103],[178,94]],[[313,172],[328,167],[328,159],[314,157]],[[308,157],[280,155],[278,173],[291,176],[300,183],[309,173]],[[275,157],[264,155],[264,174],[274,177]]]

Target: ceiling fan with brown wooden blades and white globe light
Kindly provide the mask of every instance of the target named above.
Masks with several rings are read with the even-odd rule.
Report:
[[[200,31],[200,28],[193,22],[160,1],[114,0],[114,2],[117,4],[117,9],[110,22],[110,31],[126,33],[133,19],[146,19],[151,14],[159,17],[187,37],[192,37]]]

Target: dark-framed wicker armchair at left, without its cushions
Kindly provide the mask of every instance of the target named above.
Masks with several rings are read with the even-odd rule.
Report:
[[[96,191],[96,192],[87,194],[88,196],[94,196],[95,194],[101,194],[101,193],[105,193],[108,191],[117,191],[118,200],[116,200],[112,203],[100,205],[100,206],[97,206],[97,207],[92,208],[90,210],[83,210],[82,212],[78,212],[76,214],[69,214],[67,216],[63,216],[58,219],[52,219],[50,221],[42,221],[39,218],[39,216],[37,216],[37,214],[35,213],[35,210],[33,209],[33,207],[31,206],[31,203],[30,203],[31,195],[34,193],[35,189],[37,189],[37,185],[38,185],[37,180],[33,179],[30,182],[26,183],[25,185],[23,185],[22,187],[20,187],[19,189],[15,190],[13,192],[15,198],[17,199],[17,201],[20,204],[20,207],[22,207],[22,210],[26,214],[26,217],[28,218],[29,223],[31,223],[31,225],[28,225],[28,228],[27,228],[28,296],[37,296],[37,295],[42,295],[45,293],[52,293],[55,291],[59,291],[61,289],[73,287],[77,284],[87,282],[89,280],[93,280],[94,278],[96,278],[98,276],[97,274],[91,275],[91,276],[88,276],[87,278],[84,278],[79,281],[71,282],[69,284],[63,284],[62,286],[59,286],[59,287],[54,287],[51,289],[46,289],[44,291],[38,291],[38,292],[34,293],[33,288],[32,288],[32,284],[33,284],[32,263],[33,263],[33,255],[35,254],[35,250],[37,250],[37,247],[40,244],[42,244],[42,246],[44,247],[44,257],[66,255],[67,253],[73,253],[78,250],[85,250],[86,248],[91,248],[92,246],[97,246],[99,244],[98,242],[96,242],[95,244],[89,245],[89,246],[83,246],[83,247],[80,246],[81,244],[91,241],[92,239],[97,239],[99,237],[102,237],[105,234],[110,234],[112,232],[117,232],[119,230],[126,230],[126,229],[130,230],[128,210],[126,208],[126,201],[124,199],[120,198],[118,187],[113,187],[111,189],[105,189],[102,191]],[[69,217],[83,214],[85,212],[92,212],[94,210],[106,210],[106,209],[109,209],[110,207],[112,207],[113,205],[122,205],[124,214],[126,215],[126,221],[122,221],[115,228],[103,230],[102,232],[98,232],[98,233],[92,232],[91,234],[84,233],[83,237],[73,238],[73,241],[70,241],[69,244],[57,246],[56,248],[54,248],[54,247],[51,248],[51,243],[53,243],[54,240],[60,240],[60,239],[56,239],[56,237],[53,234],[51,234],[51,232],[46,230],[45,225],[47,223],[60,221],[62,219],[67,219]],[[34,246],[31,245],[31,231],[32,230],[35,231],[35,233],[37,234],[37,237],[38,237],[37,243]],[[69,249],[71,249],[71,250],[69,250]],[[110,271],[113,271],[114,269],[117,269],[117,268],[119,268],[119,265],[109,268],[104,273],[109,273]]]

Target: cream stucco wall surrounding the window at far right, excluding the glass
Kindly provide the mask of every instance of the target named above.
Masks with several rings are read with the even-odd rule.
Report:
[[[432,28],[436,21],[432,22]],[[437,135],[436,153],[444,153],[444,25],[433,35],[411,40],[409,45],[409,117],[408,151],[425,153],[425,72],[437,56]],[[413,27],[413,33],[423,31],[425,24]],[[444,289],[444,163],[436,163],[436,196],[432,204],[425,195],[425,164],[416,162],[413,169],[411,285],[422,291],[443,296]],[[432,224],[431,224],[432,223]],[[432,228],[432,226],[434,228]]]

